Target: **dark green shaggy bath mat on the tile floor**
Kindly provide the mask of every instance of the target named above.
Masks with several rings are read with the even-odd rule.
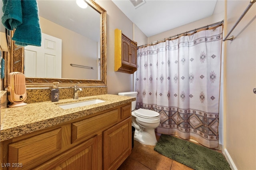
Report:
[[[221,153],[167,134],[160,136],[154,150],[195,170],[231,170]]]

